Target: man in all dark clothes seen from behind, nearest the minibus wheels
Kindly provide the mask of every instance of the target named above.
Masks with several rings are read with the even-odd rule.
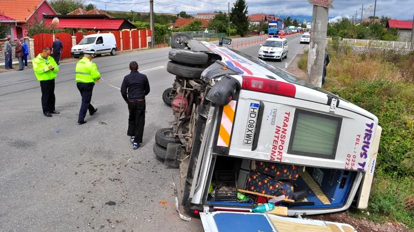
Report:
[[[127,135],[131,136],[133,149],[138,149],[142,143],[145,126],[145,96],[149,93],[149,83],[146,75],[138,72],[138,63],[129,63],[131,73],[124,77],[121,94],[128,104],[129,119]]]

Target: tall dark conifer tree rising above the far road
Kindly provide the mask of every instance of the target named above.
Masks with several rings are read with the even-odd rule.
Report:
[[[247,6],[244,0],[236,0],[231,8],[230,21],[237,30],[237,34],[244,36],[249,30],[249,18]]]

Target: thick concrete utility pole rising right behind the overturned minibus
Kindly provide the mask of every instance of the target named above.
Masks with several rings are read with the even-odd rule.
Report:
[[[325,3],[325,6],[321,6],[320,3],[317,3],[318,1],[308,2],[314,5],[314,9],[312,14],[312,35],[310,38],[306,68],[307,81],[315,86],[321,87],[327,43],[328,7],[332,7],[330,4],[332,1]]]

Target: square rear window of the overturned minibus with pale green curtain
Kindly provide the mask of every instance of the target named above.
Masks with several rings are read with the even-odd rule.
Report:
[[[289,154],[335,159],[342,118],[295,110]]]

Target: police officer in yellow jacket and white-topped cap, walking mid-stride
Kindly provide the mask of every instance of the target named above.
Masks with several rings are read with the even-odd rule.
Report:
[[[92,57],[95,52],[84,51],[82,60],[78,61],[76,65],[76,86],[82,96],[82,104],[79,110],[78,124],[85,124],[86,111],[89,110],[89,115],[93,115],[98,109],[90,104],[92,99],[92,90],[95,82],[99,82],[100,73],[98,67],[93,63]]]

